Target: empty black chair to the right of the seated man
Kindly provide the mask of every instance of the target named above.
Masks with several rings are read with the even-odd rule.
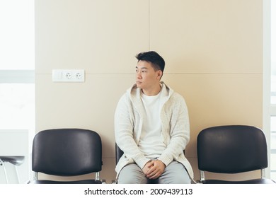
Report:
[[[256,127],[228,125],[203,129],[197,136],[197,160],[203,184],[275,183],[265,178],[267,143],[263,131]],[[241,181],[205,179],[205,171],[234,174],[253,170],[260,170],[259,178]]]

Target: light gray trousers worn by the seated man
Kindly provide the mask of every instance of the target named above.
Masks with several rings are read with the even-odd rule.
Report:
[[[172,161],[155,180],[148,179],[136,163],[126,165],[118,175],[118,184],[190,184],[191,180],[182,163]]]

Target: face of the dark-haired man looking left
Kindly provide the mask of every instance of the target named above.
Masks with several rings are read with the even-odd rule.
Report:
[[[162,71],[154,70],[150,62],[139,61],[136,66],[136,84],[144,90],[159,85]]]

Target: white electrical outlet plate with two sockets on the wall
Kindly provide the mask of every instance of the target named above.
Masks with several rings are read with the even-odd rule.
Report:
[[[53,82],[84,82],[84,69],[53,69]]]

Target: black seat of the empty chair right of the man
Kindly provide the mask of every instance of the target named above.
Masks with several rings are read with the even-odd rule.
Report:
[[[273,180],[270,179],[254,179],[245,181],[226,181],[226,180],[203,180],[202,184],[275,184]]]

